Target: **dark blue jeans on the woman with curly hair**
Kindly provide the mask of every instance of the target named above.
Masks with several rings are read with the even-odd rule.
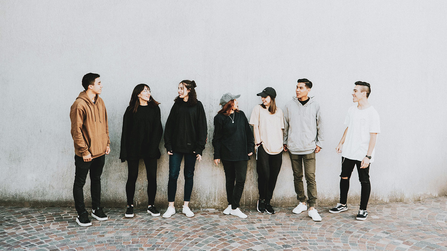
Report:
[[[175,201],[175,194],[177,192],[177,179],[180,174],[181,159],[185,156],[185,165],[183,167],[183,175],[185,176],[185,192],[184,201],[191,200],[191,192],[194,184],[194,167],[196,161],[196,154],[172,152],[169,155],[169,181],[168,181],[168,202]]]

